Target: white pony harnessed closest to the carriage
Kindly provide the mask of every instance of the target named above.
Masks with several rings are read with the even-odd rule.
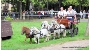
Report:
[[[66,36],[65,26],[63,24],[58,24],[57,21],[52,20],[51,27],[54,29],[54,33],[53,33],[54,39],[57,34],[58,34],[57,37],[59,38],[60,33],[63,33],[63,37]]]

